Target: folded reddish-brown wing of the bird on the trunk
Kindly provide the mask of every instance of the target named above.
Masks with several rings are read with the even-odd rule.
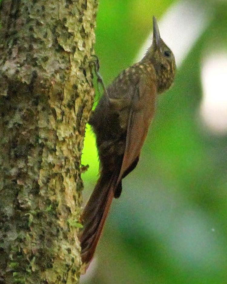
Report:
[[[126,147],[124,151],[122,166],[117,184],[133,170],[130,167],[140,156],[140,150],[146,138],[150,122],[154,116],[156,83],[153,80],[143,78],[134,90],[133,104],[130,107],[130,115],[127,127]]]

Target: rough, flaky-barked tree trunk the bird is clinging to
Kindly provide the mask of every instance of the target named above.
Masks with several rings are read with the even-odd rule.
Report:
[[[97,0],[3,0],[0,283],[78,283]]]

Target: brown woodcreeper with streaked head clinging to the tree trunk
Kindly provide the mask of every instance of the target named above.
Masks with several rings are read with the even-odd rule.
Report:
[[[81,215],[84,271],[93,259],[111,202],[120,197],[122,179],[137,166],[155,114],[156,97],[170,88],[175,74],[173,52],[161,39],[153,16],[152,45],[141,61],[113,80],[89,120],[96,136],[100,175]]]

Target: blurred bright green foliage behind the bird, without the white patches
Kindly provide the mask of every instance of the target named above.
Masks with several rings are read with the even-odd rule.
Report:
[[[210,6],[209,26],[178,69],[173,88],[158,99],[140,162],[113,201],[93,272],[83,283],[227,283],[227,136],[209,132],[198,115],[201,60],[217,42],[227,46],[227,2],[201,3]],[[172,4],[100,0],[96,53],[106,84],[133,63],[152,30],[152,15],[160,19]],[[94,144],[88,129],[85,200],[97,180]]]

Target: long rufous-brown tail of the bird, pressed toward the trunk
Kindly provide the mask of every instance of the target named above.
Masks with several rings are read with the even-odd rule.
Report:
[[[81,259],[85,271],[93,258],[98,240],[103,230],[110,205],[114,197],[117,178],[101,174],[81,219],[83,231],[80,235]]]

